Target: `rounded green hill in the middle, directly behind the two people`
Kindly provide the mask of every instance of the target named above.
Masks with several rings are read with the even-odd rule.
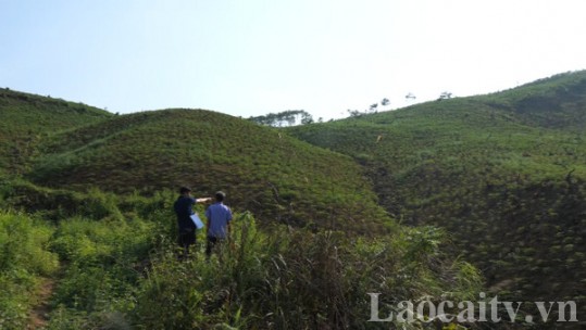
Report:
[[[26,178],[37,185],[152,194],[192,186],[261,219],[359,232],[388,218],[351,157],[201,110],[116,116],[46,139]]]

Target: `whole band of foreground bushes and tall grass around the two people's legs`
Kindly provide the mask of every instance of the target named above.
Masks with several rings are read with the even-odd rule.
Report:
[[[136,201],[129,205],[133,214],[140,213]],[[235,214],[232,240],[216,246],[210,261],[200,232],[190,259],[179,262],[175,233],[167,232],[170,218],[148,214],[149,220],[136,215],[62,219],[54,232],[28,217],[1,218],[7,230],[16,226],[43,232],[35,242],[48,244],[63,261],[47,329],[374,329],[383,325],[366,321],[369,292],[382,293],[382,306],[387,306],[421,296],[439,300],[447,293],[477,296],[481,290],[473,267],[440,252],[444,234],[432,227],[351,238],[331,230],[258,228],[246,212]],[[46,249],[34,253],[55,262]],[[42,269],[28,263],[32,257],[43,259],[28,254],[26,262],[10,257],[20,262],[5,264]],[[38,282],[29,274],[12,278],[21,292],[34,291]],[[5,277],[1,279],[4,283]],[[30,303],[23,305],[25,296],[2,300],[4,307],[12,306],[3,309],[4,328],[26,326]]]

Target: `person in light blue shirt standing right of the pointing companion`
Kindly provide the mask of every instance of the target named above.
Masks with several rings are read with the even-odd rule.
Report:
[[[210,257],[212,249],[219,243],[229,238],[232,211],[224,205],[226,194],[222,191],[215,193],[215,203],[205,210],[208,218],[208,244],[205,255]]]

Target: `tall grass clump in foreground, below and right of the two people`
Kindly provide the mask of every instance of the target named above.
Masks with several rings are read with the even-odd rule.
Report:
[[[467,297],[481,288],[470,265],[441,255],[435,234],[357,240],[285,227],[265,232],[246,213],[235,226],[233,241],[209,262],[201,253],[187,263],[159,255],[133,313],[138,328],[377,328],[366,322],[369,292],[401,301],[448,291]]]

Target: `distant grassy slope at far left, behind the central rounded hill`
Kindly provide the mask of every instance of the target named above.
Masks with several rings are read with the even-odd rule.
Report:
[[[0,174],[22,173],[35,145],[50,134],[110,116],[80,103],[0,89]]]

